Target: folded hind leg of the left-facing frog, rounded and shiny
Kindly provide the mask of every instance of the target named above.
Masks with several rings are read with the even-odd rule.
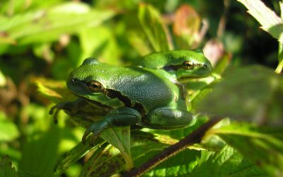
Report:
[[[141,126],[153,129],[170,130],[187,127],[195,123],[195,116],[187,110],[155,108],[142,120]]]

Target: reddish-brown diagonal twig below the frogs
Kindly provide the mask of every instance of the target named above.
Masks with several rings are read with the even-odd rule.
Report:
[[[212,120],[209,120],[204,125],[199,127],[197,130],[192,132],[190,135],[187,135],[187,137],[181,139],[179,142],[173,144],[171,147],[164,149],[163,152],[161,152],[157,156],[154,156],[154,158],[149,159],[149,161],[147,161],[145,164],[142,164],[136,169],[132,169],[131,171],[123,173],[122,176],[123,177],[141,176],[143,173],[154,168],[154,166],[157,166],[162,161],[165,161],[166,159],[168,159],[169,157],[175,154],[178,154],[178,152],[181,152],[187,146],[191,144],[199,143],[202,140],[202,137],[204,137],[207,130],[213,127],[220,120],[222,120],[222,118],[214,118]]]

